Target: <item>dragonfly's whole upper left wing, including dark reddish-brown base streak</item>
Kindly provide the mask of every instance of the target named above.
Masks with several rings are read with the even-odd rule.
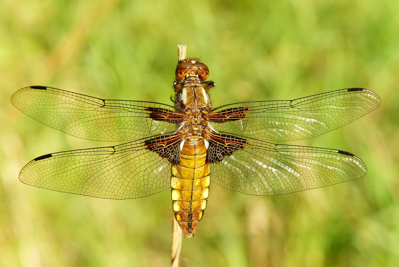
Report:
[[[95,141],[131,141],[173,132],[181,110],[154,102],[103,100],[55,88],[18,90],[12,104],[54,129]]]

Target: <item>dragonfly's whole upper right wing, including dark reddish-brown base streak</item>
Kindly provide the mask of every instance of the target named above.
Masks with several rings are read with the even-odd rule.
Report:
[[[218,132],[269,141],[315,137],[371,112],[381,100],[361,88],[343,89],[295,100],[229,104],[210,116]]]

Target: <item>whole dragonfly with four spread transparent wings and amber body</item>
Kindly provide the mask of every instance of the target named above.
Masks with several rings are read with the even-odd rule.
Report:
[[[354,154],[280,144],[340,128],[371,112],[374,92],[349,88],[294,100],[211,107],[208,67],[186,58],[175,71],[174,106],[104,100],[44,86],[12,96],[28,116],[75,137],[120,145],[50,153],[23,167],[19,179],[55,191],[110,199],[171,190],[186,237],[203,217],[210,181],[248,195],[279,195],[366,174]]]

